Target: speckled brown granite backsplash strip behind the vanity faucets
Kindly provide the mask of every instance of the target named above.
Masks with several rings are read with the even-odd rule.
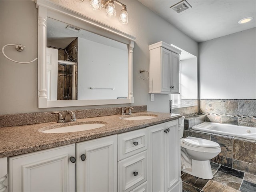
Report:
[[[124,106],[123,108],[126,108]],[[134,110],[132,112],[143,112],[147,110],[147,106],[132,106]],[[66,115],[66,111],[54,111],[60,112],[63,118]],[[75,110],[72,110],[75,111]],[[22,114],[7,114],[0,115],[0,127],[30,125],[46,122],[57,122],[58,114],[51,114],[52,112],[38,112],[38,113],[22,113]],[[120,114],[120,109],[117,107],[111,108],[96,108],[96,109],[83,109],[82,112],[76,113],[76,118],[90,118],[108,115]]]

